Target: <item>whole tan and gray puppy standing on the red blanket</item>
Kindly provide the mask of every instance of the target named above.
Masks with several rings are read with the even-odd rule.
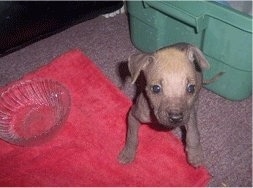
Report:
[[[187,43],[178,43],[154,54],[134,54],[129,57],[132,83],[143,72],[146,86],[128,114],[126,144],[118,158],[121,163],[134,160],[139,126],[155,118],[169,129],[185,126],[188,161],[195,167],[201,165],[202,149],[196,108],[203,83],[202,70],[208,67],[202,52]]]

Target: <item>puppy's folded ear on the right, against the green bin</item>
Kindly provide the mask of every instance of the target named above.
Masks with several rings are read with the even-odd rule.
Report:
[[[201,72],[202,70],[210,68],[204,54],[197,47],[189,45],[187,49],[187,56],[189,60],[194,63],[196,71]]]

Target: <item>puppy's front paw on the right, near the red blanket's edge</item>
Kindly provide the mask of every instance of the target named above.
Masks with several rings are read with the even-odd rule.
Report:
[[[199,167],[203,163],[203,153],[201,146],[186,147],[188,162],[194,166]]]

